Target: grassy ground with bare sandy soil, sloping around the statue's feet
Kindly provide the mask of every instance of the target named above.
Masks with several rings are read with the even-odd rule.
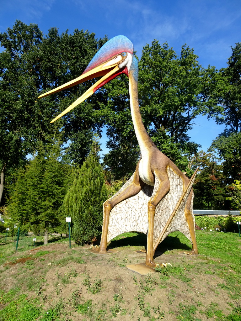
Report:
[[[126,268],[145,261],[136,251],[146,235],[112,240],[116,253],[95,255],[68,239],[0,234],[1,321],[241,320],[241,238],[237,233],[196,231],[199,254],[171,233],[155,261],[172,266],[141,276]]]

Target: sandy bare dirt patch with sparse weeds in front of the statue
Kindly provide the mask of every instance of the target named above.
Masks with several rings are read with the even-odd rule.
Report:
[[[240,304],[238,291],[234,298],[225,288],[225,273],[235,274],[229,266],[174,249],[155,258],[156,263],[168,262],[172,267],[142,276],[126,268],[145,261],[145,255],[137,253],[140,249],[125,246],[113,254],[96,255],[88,247],[49,244],[9,260],[2,269],[1,286],[7,291],[21,283],[21,291],[37,296],[46,313],[62,302],[61,321],[208,320],[211,310],[228,315],[230,302]]]

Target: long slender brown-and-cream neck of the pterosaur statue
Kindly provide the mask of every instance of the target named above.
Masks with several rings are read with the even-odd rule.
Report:
[[[155,144],[148,136],[141,118],[138,101],[138,82],[136,78],[137,77],[135,77],[134,73],[131,71],[129,73],[130,111],[140,151],[141,153],[144,153],[148,148]]]

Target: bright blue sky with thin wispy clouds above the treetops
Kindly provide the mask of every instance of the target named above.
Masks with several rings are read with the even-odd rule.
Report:
[[[240,0],[0,0],[0,32],[11,28],[16,19],[38,24],[44,34],[51,27],[60,33],[88,30],[97,38],[123,34],[139,57],[142,47],[153,39],[167,41],[177,54],[186,43],[203,67],[217,69],[227,66],[231,46],[241,41]],[[202,116],[195,123],[189,134],[203,150],[224,129]]]

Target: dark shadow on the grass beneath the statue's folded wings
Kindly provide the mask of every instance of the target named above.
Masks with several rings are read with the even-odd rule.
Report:
[[[138,235],[132,237],[126,237],[119,240],[113,240],[108,246],[108,249],[118,248],[118,247],[126,247],[126,246],[142,246],[143,249],[146,248],[147,245],[147,235],[144,233],[139,233]],[[192,247],[180,242],[180,239],[177,236],[167,236],[156,248],[156,255],[159,256],[166,251],[180,249],[185,251],[192,250]],[[158,253],[158,254],[157,254]]]

